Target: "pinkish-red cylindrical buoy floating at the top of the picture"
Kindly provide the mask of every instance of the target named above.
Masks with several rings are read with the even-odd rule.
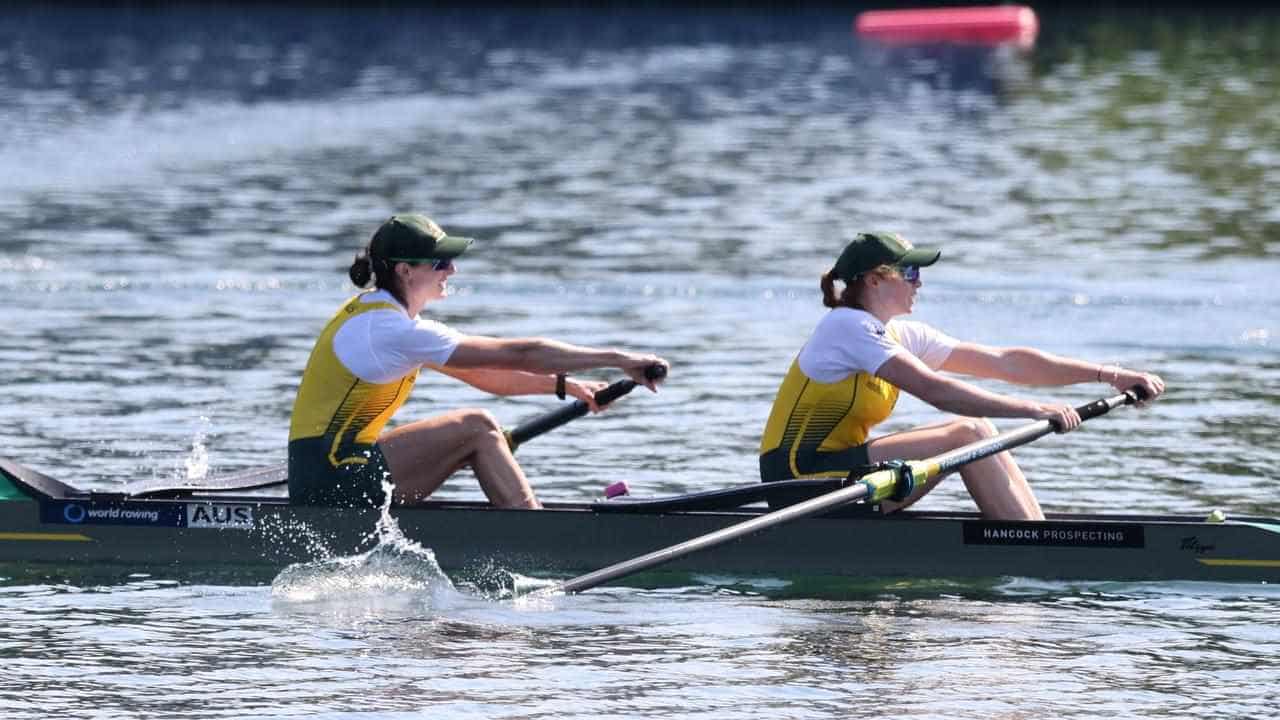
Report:
[[[1036,12],[1024,5],[868,10],[854,22],[858,35],[890,45],[957,42],[1030,47],[1038,31]]]

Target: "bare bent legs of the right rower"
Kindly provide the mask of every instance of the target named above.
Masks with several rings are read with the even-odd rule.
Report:
[[[879,437],[867,445],[872,462],[906,459],[922,460],[970,442],[993,437],[996,428],[988,420],[977,418],[957,418],[955,420],[928,425]],[[906,501],[884,502],[887,511],[901,510],[928,495],[945,475],[931,479],[915,488]],[[1021,468],[1014,456],[998,452],[991,457],[975,460],[960,469],[960,478],[973,496],[978,510],[992,520],[1043,520],[1039,502]]]

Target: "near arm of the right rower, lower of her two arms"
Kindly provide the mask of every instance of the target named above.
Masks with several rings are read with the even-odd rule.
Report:
[[[1019,400],[997,395],[933,372],[910,352],[899,352],[884,361],[876,374],[899,388],[919,397],[929,405],[970,418],[1032,418],[1044,420],[1064,419],[1070,406]],[[1075,423],[1068,427],[1079,424]]]

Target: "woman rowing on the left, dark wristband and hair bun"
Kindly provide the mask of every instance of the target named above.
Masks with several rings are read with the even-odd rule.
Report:
[[[470,466],[494,505],[540,507],[502,428],[484,410],[454,410],[383,432],[424,366],[494,395],[568,393],[593,411],[604,383],[564,373],[620,368],[657,391],[658,380],[645,375],[650,365],[666,372],[667,361],[657,355],[463,334],[419,318],[429,302],[445,297],[457,272],[453,259],[471,242],[445,234],[424,215],[396,215],[356,256],[351,281],[367,287],[372,279],[375,287],[338,309],[307,360],[289,423],[292,502],[380,505],[384,479],[394,487],[394,502],[417,502]]]

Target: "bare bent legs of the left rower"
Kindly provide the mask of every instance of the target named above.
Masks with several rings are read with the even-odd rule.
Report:
[[[454,410],[402,425],[378,438],[396,480],[396,501],[412,503],[470,465],[498,507],[541,507],[529,478],[507,447],[502,427],[485,410]]]

